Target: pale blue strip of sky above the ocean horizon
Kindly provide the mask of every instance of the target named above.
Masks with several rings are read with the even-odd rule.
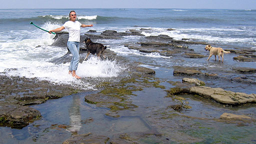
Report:
[[[256,0],[0,0],[4,8],[256,9]]]

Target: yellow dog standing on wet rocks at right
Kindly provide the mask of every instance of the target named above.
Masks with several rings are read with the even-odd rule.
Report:
[[[216,55],[218,55],[218,61],[220,61],[220,56],[221,56],[222,57],[222,61],[221,62],[223,62],[224,53],[230,53],[230,51],[225,51],[225,50],[223,50],[220,47],[212,47],[210,45],[206,45],[204,49],[206,51],[207,50],[210,51],[210,55],[209,55],[207,60],[210,59],[211,55],[214,55],[215,56],[215,61],[216,61]]]

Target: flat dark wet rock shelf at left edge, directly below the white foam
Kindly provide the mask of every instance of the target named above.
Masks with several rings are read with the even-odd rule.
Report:
[[[18,100],[60,98],[65,95],[70,95],[76,90],[79,91],[78,88],[75,89],[71,85],[58,85],[36,78],[0,75],[0,80],[2,82],[0,95],[12,95]]]

